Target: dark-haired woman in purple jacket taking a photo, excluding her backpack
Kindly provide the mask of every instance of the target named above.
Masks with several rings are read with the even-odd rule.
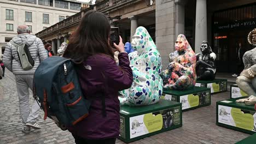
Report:
[[[88,117],[68,128],[75,143],[115,143],[119,136],[118,92],[131,87],[132,70],[121,37],[113,49],[109,35],[108,18],[94,10],[88,11],[63,54],[63,57],[80,59],[79,82],[85,98],[91,101]],[[114,50],[119,51],[119,65],[114,61]]]

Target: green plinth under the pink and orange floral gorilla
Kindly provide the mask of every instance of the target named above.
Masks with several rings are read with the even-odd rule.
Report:
[[[193,87],[183,91],[168,90],[163,92],[161,98],[182,103],[182,111],[187,111],[211,105],[211,89]]]

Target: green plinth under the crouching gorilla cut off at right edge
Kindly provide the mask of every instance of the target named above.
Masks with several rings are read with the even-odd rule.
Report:
[[[237,99],[240,98],[217,101],[217,125],[248,134],[256,133],[256,113],[254,105],[236,103]]]

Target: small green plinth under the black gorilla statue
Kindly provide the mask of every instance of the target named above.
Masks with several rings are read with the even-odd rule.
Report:
[[[225,79],[214,79],[212,81],[196,80],[195,86],[211,88],[211,94],[216,94],[227,91],[228,81]]]

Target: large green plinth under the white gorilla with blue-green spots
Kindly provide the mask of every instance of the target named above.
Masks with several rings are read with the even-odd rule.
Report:
[[[182,127],[181,103],[160,99],[147,106],[121,106],[119,139],[128,143]]]

